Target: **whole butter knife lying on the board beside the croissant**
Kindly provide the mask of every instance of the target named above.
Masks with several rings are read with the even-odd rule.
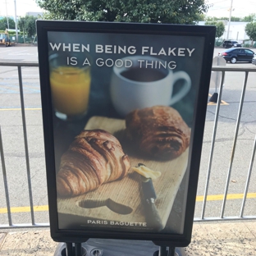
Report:
[[[139,163],[138,166],[144,165]],[[158,213],[158,208],[156,207],[155,201],[157,199],[157,194],[153,187],[153,182],[151,178],[145,178],[140,175],[142,191],[144,195],[144,213],[146,221],[149,227],[153,228],[154,231],[162,231],[162,219]]]

